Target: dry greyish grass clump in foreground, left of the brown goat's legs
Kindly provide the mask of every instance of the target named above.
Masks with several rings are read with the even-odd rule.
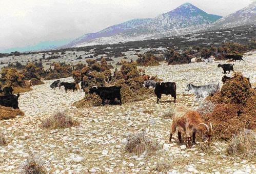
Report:
[[[127,138],[125,150],[135,155],[141,155],[146,151],[147,155],[154,155],[156,150],[160,148],[156,141],[150,140],[145,133],[131,134]]]

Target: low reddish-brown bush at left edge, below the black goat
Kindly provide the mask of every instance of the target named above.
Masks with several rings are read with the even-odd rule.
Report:
[[[0,106],[0,120],[16,118],[16,116],[24,116],[21,110],[14,110],[11,107]]]

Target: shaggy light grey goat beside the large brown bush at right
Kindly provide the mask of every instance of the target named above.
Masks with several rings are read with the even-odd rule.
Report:
[[[192,91],[195,94],[196,100],[199,98],[206,98],[207,96],[213,96],[214,93],[220,90],[219,84],[208,84],[202,86],[196,86],[191,83],[187,84],[185,91]]]

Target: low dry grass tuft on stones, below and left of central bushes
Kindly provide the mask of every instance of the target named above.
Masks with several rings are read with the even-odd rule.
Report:
[[[77,126],[80,123],[73,120],[70,116],[66,116],[64,113],[57,113],[54,116],[42,120],[43,127],[45,128],[66,128]]]

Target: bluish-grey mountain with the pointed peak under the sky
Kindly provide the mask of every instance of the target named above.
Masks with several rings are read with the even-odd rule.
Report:
[[[198,26],[212,24],[221,17],[208,14],[190,3],[185,3],[152,19],[132,19],[100,32],[85,34],[71,41],[65,47],[115,44],[120,41],[155,39],[187,34],[198,30]]]

